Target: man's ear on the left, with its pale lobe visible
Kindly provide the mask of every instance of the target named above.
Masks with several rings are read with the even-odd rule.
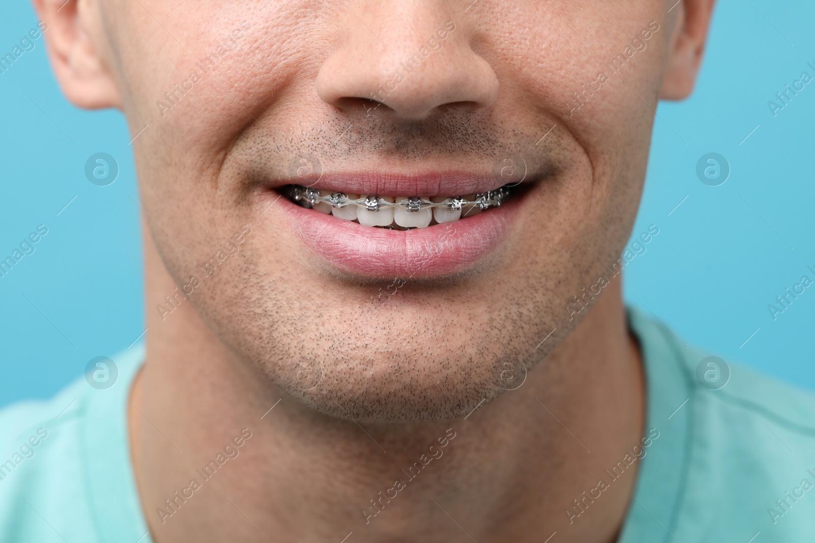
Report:
[[[32,0],[42,23],[48,58],[65,96],[78,107],[121,107],[104,59],[104,28],[93,0]]]

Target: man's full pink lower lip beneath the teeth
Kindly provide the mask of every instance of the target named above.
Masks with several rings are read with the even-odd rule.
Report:
[[[440,276],[474,266],[509,233],[518,202],[474,217],[417,228],[387,230],[337,219],[281,197],[281,209],[302,243],[329,265],[381,278]]]

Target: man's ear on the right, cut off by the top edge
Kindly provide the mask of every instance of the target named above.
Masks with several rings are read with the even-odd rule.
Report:
[[[694,90],[715,0],[681,0],[676,16],[661,99],[681,100]]]

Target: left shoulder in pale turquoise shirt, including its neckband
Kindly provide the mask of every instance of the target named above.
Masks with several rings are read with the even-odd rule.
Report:
[[[0,409],[0,543],[103,541],[108,516],[128,534],[143,525],[126,428],[143,350],[113,358],[108,387],[81,377],[50,400]]]

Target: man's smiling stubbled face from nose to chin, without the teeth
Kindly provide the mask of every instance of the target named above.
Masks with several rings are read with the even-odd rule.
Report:
[[[183,303],[307,405],[411,421],[512,388],[508,368],[535,366],[585,315],[572,318],[573,298],[610,275],[641,195],[669,7],[99,10],[131,129],[147,125],[133,143],[143,208],[179,291],[192,291]],[[521,179],[500,208],[416,230],[280,197],[300,184],[429,199]],[[164,294],[151,311],[172,309]]]

